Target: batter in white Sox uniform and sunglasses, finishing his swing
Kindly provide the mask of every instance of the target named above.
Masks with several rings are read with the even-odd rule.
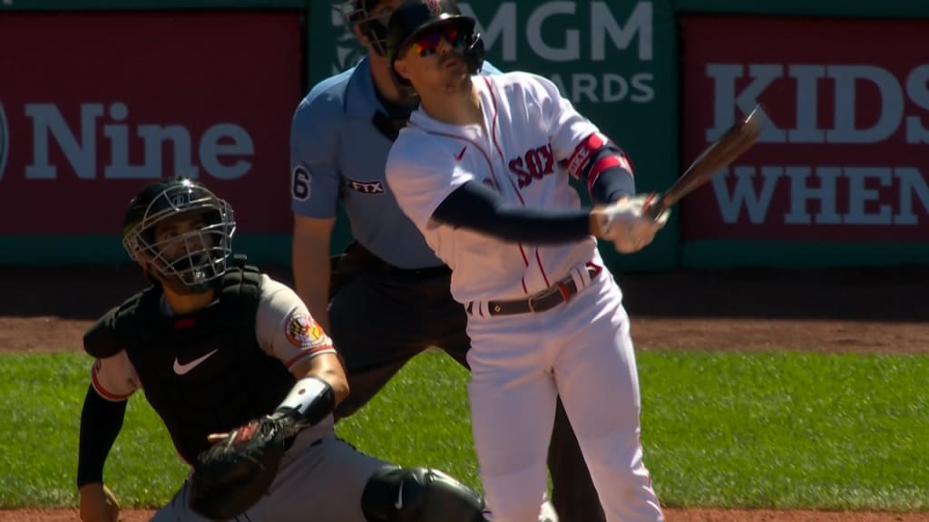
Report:
[[[667,219],[642,215],[632,167],[548,80],[476,76],[476,21],[444,0],[391,16],[388,59],[421,106],[386,179],[468,314],[480,476],[498,522],[534,520],[560,394],[609,521],[662,520],[639,443],[640,398],[622,293],[596,237],[623,253]],[[574,176],[595,209],[582,209]]]

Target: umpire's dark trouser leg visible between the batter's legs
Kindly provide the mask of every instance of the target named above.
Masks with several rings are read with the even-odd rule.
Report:
[[[561,522],[606,522],[594,481],[560,398],[548,447],[548,469],[552,474],[552,503]]]

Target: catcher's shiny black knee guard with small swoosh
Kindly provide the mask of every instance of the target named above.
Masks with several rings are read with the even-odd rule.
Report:
[[[370,522],[484,522],[484,498],[444,473],[385,466],[361,495]]]

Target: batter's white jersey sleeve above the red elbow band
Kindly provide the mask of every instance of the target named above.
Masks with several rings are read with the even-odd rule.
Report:
[[[551,80],[522,72],[532,81],[526,82],[527,97],[536,99],[542,111],[543,128],[548,129],[556,160],[567,160],[581,140],[595,132],[596,125],[574,109],[568,98],[561,96]]]

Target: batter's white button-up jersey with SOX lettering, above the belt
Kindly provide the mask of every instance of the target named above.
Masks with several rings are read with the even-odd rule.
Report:
[[[477,179],[510,204],[579,208],[564,162],[598,131],[549,80],[527,72],[473,78],[484,113],[478,125],[444,124],[412,113],[387,158],[387,183],[426,242],[452,268],[451,294],[460,303],[534,294],[569,269],[602,266],[593,236],[559,245],[504,242],[432,219],[438,205]]]

